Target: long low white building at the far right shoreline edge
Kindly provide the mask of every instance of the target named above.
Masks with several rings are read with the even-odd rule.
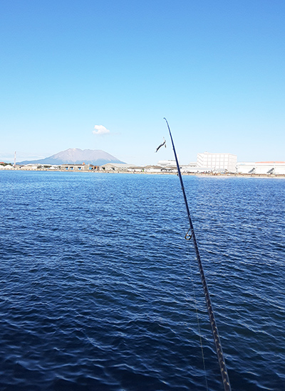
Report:
[[[285,161],[257,161],[237,164],[237,173],[285,175]]]

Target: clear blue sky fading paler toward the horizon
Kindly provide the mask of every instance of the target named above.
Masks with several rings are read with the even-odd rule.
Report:
[[[167,117],[182,164],[285,161],[283,0],[4,0],[0,18],[0,160],[155,164]]]

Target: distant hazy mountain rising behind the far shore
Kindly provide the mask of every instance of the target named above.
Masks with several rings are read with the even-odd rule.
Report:
[[[49,156],[46,159],[38,159],[32,161],[21,161],[18,164],[83,164],[90,163],[94,166],[102,166],[106,163],[123,163],[114,156],[100,149],[66,149],[66,151],[58,152],[58,154]]]

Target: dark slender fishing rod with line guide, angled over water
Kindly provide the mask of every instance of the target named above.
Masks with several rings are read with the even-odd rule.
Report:
[[[216,351],[217,351],[217,357],[218,357],[218,360],[219,360],[219,369],[221,370],[221,374],[222,374],[222,382],[223,382],[223,385],[224,385],[224,391],[231,391],[231,385],[229,384],[229,375],[227,374],[226,362],[224,360],[224,353],[222,351],[222,344],[221,344],[221,341],[219,339],[219,332],[218,332],[218,328],[217,328],[217,323],[215,321],[214,311],[212,309],[212,301],[211,301],[211,298],[209,296],[209,289],[208,289],[206,278],[205,278],[205,275],[204,275],[204,269],[203,269],[201,257],[199,255],[199,248],[198,248],[198,245],[197,245],[195,230],[194,230],[194,227],[193,227],[193,224],[192,224],[190,210],[189,210],[189,206],[188,206],[188,203],[187,203],[187,197],[186,197],[186,193],[185,193],[184,184],[183,184],[183,181],[182,181],[182,175],[181,175],[181,171],[180,171],[180,166],[179,166],[179,163],[178,163],[177,154],[176,154],[176,151],[175,151],[175,146],[174,146],[174,142],[173,142],[173,139],[172,139],[172,134],[170,132],[170,126],[169,126],[169,124],[167,122],[167,119],[166,118],[164,118],[164,119],[165,119],[165,122],[167,124],[167,128],[168,128],[169,133],[170,133],[170,139],[171,139],[171,142],[172,142],[172,149],[173,149],[174,156],[175,156],[178,176],[180,178],[180,184],[181,184],[182,193],[183,193],[185,206],[186,206],[186,211],[187,211],[187,216],[188,216],[188,220],[189,220],[189,224],[190,224],[190,228],[189,228],[187,234],[185,235],[185,239],[186,240],[191,240],[192,239],[193,243],[194,243],[196,257],[197,257],[197,262],[198,262],[198,265],[199,265],[199,272],[200,272],[200,276],[201,276],[201,279],[202,279],[202,286],[203,286],[204,295],[205,295],[206,304],[207,304],[207,310],[208,310],[208,314],[209,314],[209,321],[211,323],[211,328],[212,328],[212,333],[213,333],[213,338],[214,338],[214,346],[215,346]]]

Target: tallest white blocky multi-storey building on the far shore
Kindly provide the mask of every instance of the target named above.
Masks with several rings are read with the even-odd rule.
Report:
[[[237,171],[237,155],[233,154],[197,154],[197,168],[204,168],[204,171]]]

